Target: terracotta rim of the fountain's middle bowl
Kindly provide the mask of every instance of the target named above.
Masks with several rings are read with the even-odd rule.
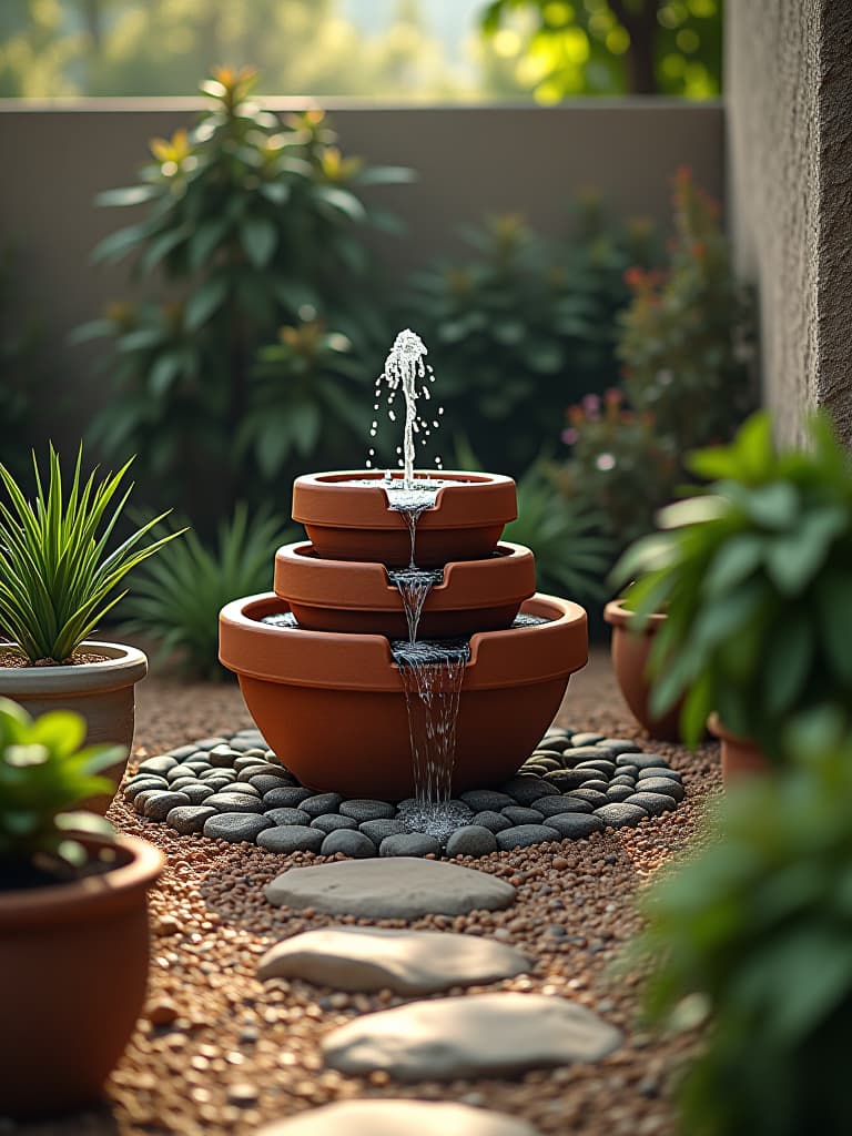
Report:
[[[452,560],[429,588],[425,611],[490,608],[528,600],[535,592],[535,559],[523,544],[496,546],[499,557]],[[329,560],[310,541],[284,544],[275,554],[275,594],[287,603],[335,611],[402,612],[399,588],[376,561]]]

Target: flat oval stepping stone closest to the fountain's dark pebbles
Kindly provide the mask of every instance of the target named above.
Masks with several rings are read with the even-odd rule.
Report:
[[[267,884],[264,894],[274,907],[362,919],[419,919],[508,908],[515,888],[496,876],[443,860],[385,857],[292,868]]]

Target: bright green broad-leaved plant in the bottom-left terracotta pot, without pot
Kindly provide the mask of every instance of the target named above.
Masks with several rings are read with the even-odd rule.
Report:
[[[85,862],[74,835],[112,836],[102,817],[72,811],[109,792],[102,769],[124,755],[120,746],[81,749],[85,720],[52,711],[33,719],[0,699],[0,885],[23,886]]]

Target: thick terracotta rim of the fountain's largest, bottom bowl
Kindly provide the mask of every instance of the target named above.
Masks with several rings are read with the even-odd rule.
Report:
[[[312,632],[274,627],[259,620],[289,610],[274,592],[244,596],[219,613],[219,660],[240,678],[328,690],[402,690],[400,668],[385,635]],[[578,603],[536,593],[520,605],[526,615],[550,618],[533,627],[475,632],[465,667],[463,690],[526,686],[567,677],[586,665],[586,612]],[[556,617],[556,618],[554,618]],[[518,665],[520,652],[525,666]]]

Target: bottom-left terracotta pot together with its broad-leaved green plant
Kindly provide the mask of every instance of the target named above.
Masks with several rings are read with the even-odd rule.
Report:
[[[95,1097],[144,1000],[145,893],[157,849],[69,812],[109,788],[114,746],[81,750],[80,715],[33,720],[0,699],[0,968],[9,1036],[0,1116]]]

